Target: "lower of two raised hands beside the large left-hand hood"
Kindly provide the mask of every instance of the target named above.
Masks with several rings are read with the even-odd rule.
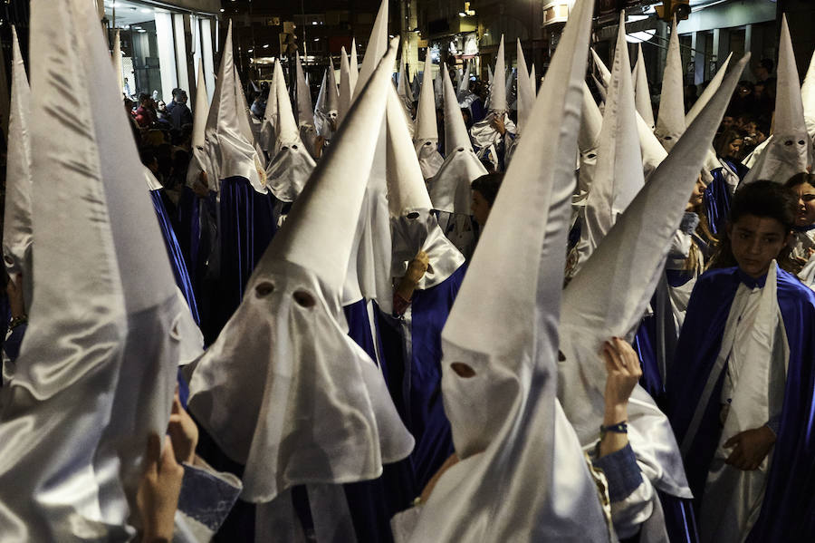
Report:
[[[184,468],[174,457],[169,436],[164,437],[163,451],[160,443],[157,434],[149,436],[145,472],[136,493],[143,525],[142,543],[172,540],[178,496],[184,479]]]

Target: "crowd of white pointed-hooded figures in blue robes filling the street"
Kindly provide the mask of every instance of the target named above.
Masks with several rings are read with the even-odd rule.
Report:
[[[174,232],[94,3],[33,1],[30,90],[16,44],[12,72],[3,248],[29,320],[4,364],[0,541],[136,537],[144,443],[177,386],[199,454],[240,478],[186,465],[177,540],[815,538],[815,296],[774,265],[762,279],[742,336],[781,357],[782,396],[769,407],[767,375],[743,372],[751,400],[716,426],[724,373],[739,396],[719,364],[738,268],[697,282],[704,258],[682,264],[702,252],[689,195],[726,215],[744,184],[812,163],[815,68],[801,88],[784,22],[774,131],[739,179],[711,142],[749,54],[686,114],[675,24],[654,121],[624,16],[610,70],[590,54],[593,7],[575,3],[540,89],[519,44],[517,125],[502,39],[469,133],[472,100],[444,68],[434,84],[429,55],[412,119],[388,2],[314,110],[299,59],[296,108],[275,63],[260,122],[230,26],[212,103],[199,69]],[[470,183],[496,155],[478,231]],[[609,422],[610,338],[633,341],[643,376]],[[716,464],[717,443],[773,417],[758,470]],[[609,452],[609,435],[627,441]]]

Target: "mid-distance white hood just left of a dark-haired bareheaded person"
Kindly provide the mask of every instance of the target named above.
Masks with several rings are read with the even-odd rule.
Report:
[[[430,199],[434,209],[469,215],[470,183],[487,171],[475,156],[446,67],[439,72],[445,84],[445,161],[430,184]]]

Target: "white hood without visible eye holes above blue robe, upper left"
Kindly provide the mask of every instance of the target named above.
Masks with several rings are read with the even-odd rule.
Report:
[[[213,176],[218,180],[232,177],[248,179],[252,188],[265,193],[263,162],[253,142],[244,134],[239,115],[244,114],[241,98],[237,95],[235,58],[232,53],[232,22],[226,32],[226,43],[221,55],[215,93],[206,120],[206,141]],[[268,106],[266,108],[268,110]],[[211,176],[211,177],[213,177]]]

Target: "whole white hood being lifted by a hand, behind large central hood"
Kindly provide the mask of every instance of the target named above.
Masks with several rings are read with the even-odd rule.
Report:
[[[436,286],[464,264],[465,258],[438,227],[436,215],[419,167],[416,153],[410,150],[410,133],[400,112],[399,97],[388,97],[386,174],[391,231],[391,275],[402,277],[419,250],[430,261],[419,280],[418,289]]]

